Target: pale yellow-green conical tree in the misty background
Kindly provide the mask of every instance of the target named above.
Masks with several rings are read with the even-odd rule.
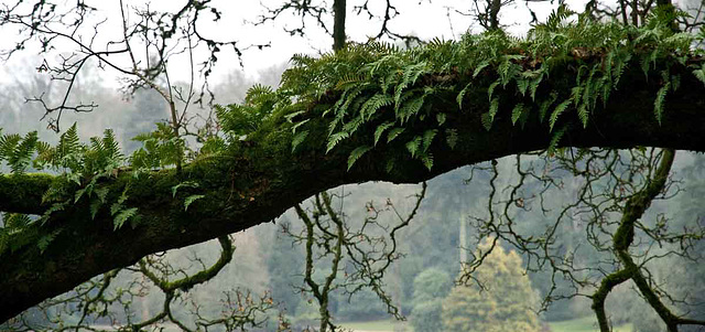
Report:
[[[494,245],[486,240],[480,250]],[[458,285],[444,300],[444,331],[540,331],[536,296],[516,251],[496,246],[474,275],[475,285]]]

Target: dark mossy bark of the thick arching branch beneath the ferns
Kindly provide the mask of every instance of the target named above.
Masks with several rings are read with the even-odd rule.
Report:
[[[681,89],[668,96],[666,110],[659,125],[653,114],[657,83],[646,82],[640,68],[628,71],[629,84],[610,97],[606,108],[592,115],[587,128],[572,126],[561,144],[652,146],[705,152],[703,83],[684,74]],[[455,98],[448,99],[452,100],[434,105],[445,110],[457,108]],[[453,150],[445,144],[434,144],[435,163],[431,171],[421,162],[410,160],[387,172],[384,156],[398,153],[399,148],[393,150],[386,144],[379,144],[347,171],[348,153],[355,146],[343,144],[327,154],[324,147],[292,153],[291,136],[272,133],[265,139],[243,142],[229,157],[184,165],[181,175],[173,170],[138,180],[130,180],[128,173],[120,174],[109,185],[119,192],[118,189],[131,181],[127,205],[139,207],[141,224],[113,231],[108,212],[91,219],[88,207],[80,203],[55,214],[39,229],[42,233],[61,229],[44,253],[35,245],[26,245],[0,256],[0,321],[66,292],[93,276],[134,264],[145,255],[270,222],[326,189],[366,181],[417,183],[466,164],[549,146],[552,133],[546,124],[535,117],[521,128],[512,126],[507,111],[500,110],[492,129],[487,131],[480,121],[486,107],[486,95],[473,98],[448,119],[458,130],[457,144]],[[566,113],[562,117],[565,121],[573,115]],[[574,120],[581,124],[577,118]],[[322,132],[312,132],[310,137],[325,137],[325,126],[319,127]],[[348,141],[355,142],[355,138]],[[187,212],[183,208],[183,196],[172,197],[172,186],[185,180],[197,181],[200,186],[194,193],[205,194]],[[0,211],[41,214],[46,208],[41,196],[51,181],[50,175],[0,176]]]

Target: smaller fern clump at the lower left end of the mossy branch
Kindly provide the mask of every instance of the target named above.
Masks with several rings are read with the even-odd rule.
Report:
[[[127,161],[110,129],[106,129],[102,137],[90,138],[87,144],[80,142],[76,124],[61,135],[55,146],[40,141],[36,131],[24,137],[17,133],[0,135],[0,161],[4,161],[14,175],[25,173],[30,165],[34,170],[58,174],[42,195],[42,204],[47,206],[42,215],[33,218],[22,214],[6,215],[6,224],[0,228],[0,254],[30,243],[36,244],[43,251],[61,232],[61,227],[41,235],[33,225],[43,225],[54,213],[79,201],[88,203],[93,218],[101,207],[110,205],[116,229],[128,221],[133,225],[139,221],[137,208],[124,205],[128,186],[116,202],[108,202],[110,189],[102,180],[115,178],[117,170]]]

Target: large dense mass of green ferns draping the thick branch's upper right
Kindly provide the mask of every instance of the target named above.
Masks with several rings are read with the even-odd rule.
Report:
[[[500,115],[516,126],[538,117],[554,135],[553,149],[568,126],[566,114],[574,113],[579,126],[587,127],[623,84],[625,69],[639,66],[660,84],[654,116],[661,121],[668,95],[680,85],[673,68],[692,66],[687,60],[696,36],[674,32],[668,23],[672,20],[660,11],[640,28],[587,17],[568,22],[572,14],[561,7],[524,39],[491,31],[411,50],[370,42],[318,58],[295,55],[278,90],[262,94],[257,87],[243,105],[220,108],[218,116],[225,127],[238,128],[234,135],[246,136],[267,115],[284,114],[294,132],[293,150],[307,139],[311,120],[324,120],[326,153],[346,141],[354,144],[348,169],[379,144],[399,144],[408,158],[431,169],[432,147],[457,142],[457,128],[446,119],[469,111],[464,103],[478,92],[487,96],[478,117],[482,127],[491,130]],[[547,79],[566,67],[575,72],[570,79]],[[705,82],[703,67],[692,69]],[[455,97],[455,109],[447,107],[448,96]],[[327,106],[314,111],[306,105]],[[390,168],[393,162],[389,160]]]

